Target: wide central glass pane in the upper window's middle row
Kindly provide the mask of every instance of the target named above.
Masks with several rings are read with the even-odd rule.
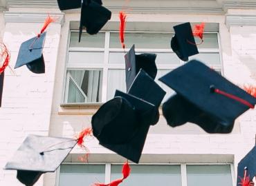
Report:
[[[136,54],[141,54],[137,52]],[[146,52],[149,53],[149,52]],[[153,53],[153,52],[152,52]],[[154,52],[156,54],[156,65],[179,65],[180,61],[175,53]],[[124,64],[125,65],[125,53],[124,52],[110,52],[109,63]]]

